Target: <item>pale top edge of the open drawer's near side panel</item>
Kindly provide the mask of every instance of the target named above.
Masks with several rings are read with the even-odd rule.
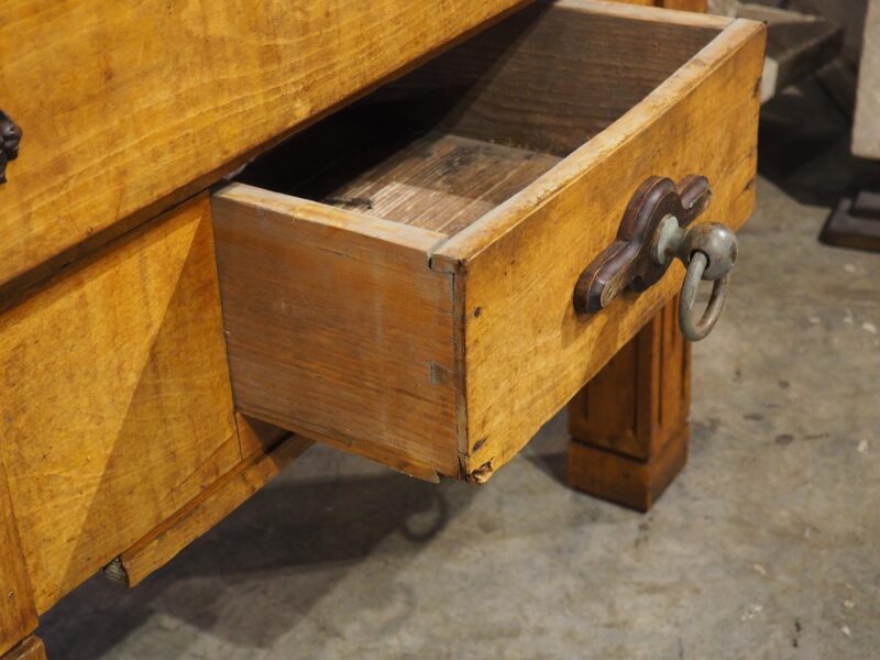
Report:
[[[230,184],[215,193],[211,196],[211,200],[213,204],[229,202],[253,209],[266,209],[290,216],[297,221],[323,224],[395,243],[404,248],[424,250],[426,252],[426,266],[428,264],[428,252],[447,238],[447,234],[430,229],[340,209],[320,201],[285,195],[284,193],[273,193],[248,184]]]

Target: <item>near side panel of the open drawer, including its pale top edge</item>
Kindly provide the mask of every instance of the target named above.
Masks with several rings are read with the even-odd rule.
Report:
[[[443,235],[241,184],[212,204],[237,407],[457,474],[452,279],[427,256]]]

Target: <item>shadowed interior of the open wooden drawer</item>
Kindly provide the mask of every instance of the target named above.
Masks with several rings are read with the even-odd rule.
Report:
[[[241,183],[454,234],[534,183],[718,31],[531,6],[295,135]]]

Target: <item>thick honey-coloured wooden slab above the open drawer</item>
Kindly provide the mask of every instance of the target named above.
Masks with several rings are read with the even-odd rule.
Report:
[[[24,140],[0,186],[0,285],[119,235],[521,1],[6,2],[2,108]]]

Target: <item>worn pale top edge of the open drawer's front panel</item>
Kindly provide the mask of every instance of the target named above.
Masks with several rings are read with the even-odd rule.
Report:
[[[575,1],[575,0],[566,0]],[[576,0],[587,2],[587,0]],[[591,4],[600,4],[590,0]],[[603,6],[616,7],[602,2]],[[627,7],[620,4],[619,7]],[[635,10],[640,13],[647,8]],[[632,8],[630,8],[632,10]],[[664,13],[666,10],[658,10]],[[684,15],[702,16],[703,14]],[[735,19],[710,44],[703,47],[684,66],[605,131],[586,142],[559,165],[540,176],[531,186],[493,209],[463,231],[439,243],[430,252],[431,266],[444,272],[461,271],[481,252],[499,240],[521,222],[528,221],[535,209],[560,194],[574,180],[596,167],[605,157],[625,144],[638,140],[651,124],[674,111],[680,100],[706,80],[713,72],[734,57],[741,44],[766,33],[763,23]]]

